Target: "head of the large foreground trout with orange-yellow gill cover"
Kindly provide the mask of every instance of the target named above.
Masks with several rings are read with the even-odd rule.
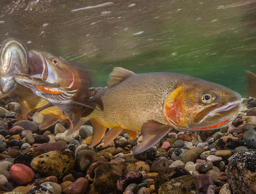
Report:
[[[232,122],[241,107],[235,91],[190,77],[167,96],[163,116],[177,130],[214,130]]]

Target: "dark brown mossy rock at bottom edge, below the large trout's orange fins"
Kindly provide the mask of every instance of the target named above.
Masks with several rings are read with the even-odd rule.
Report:
[[[94,186],[99,194],[117,191],[116,182],[122,176],[122,170],[110,163],[95,168]]]

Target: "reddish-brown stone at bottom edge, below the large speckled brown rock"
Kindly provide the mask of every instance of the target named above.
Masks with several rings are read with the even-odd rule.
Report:
[[[89,182],[84,177],[80,177],[72,184],[63,189],[64,194],[84,194],[89,186]]]

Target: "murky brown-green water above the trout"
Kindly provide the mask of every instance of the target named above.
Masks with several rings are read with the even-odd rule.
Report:
[[[256,0],[1,0],[0,41],[16,37],[81,64],[179,72],[246,96],[256,72]]]

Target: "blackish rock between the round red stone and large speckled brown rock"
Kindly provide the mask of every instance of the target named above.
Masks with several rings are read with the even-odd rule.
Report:
[[[32,161],[33,158],[35,158],[36,156],[40,156],[41,154],[45,153],[45,151],[43,150],[30,150],[27,152],[23,152],[20,154],[20,156],[18,156],[17,158],[15,158],[14,163],[20,163],[26,166],[30,166],[30,162]]]

